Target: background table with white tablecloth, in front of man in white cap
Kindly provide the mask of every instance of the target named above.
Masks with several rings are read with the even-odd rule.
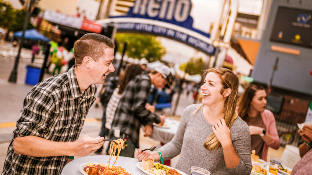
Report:
[[[169,128],[154,126],[151,138],[158,140],[163,144],[169,143],[177,132],[179,124],[179,121],[167,117],[165,119],[165,125],[167,125]]]

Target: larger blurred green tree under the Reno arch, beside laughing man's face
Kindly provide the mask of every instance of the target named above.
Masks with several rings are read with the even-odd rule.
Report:
[[[115,36],[118,42],[118,52],[124,49],[124,42],[128,42],[126,55],[134,59],[146,58],[149,62],[161,60],[166,54],[166,49],[155,36],[134,34],[134,33],[118,33]]]

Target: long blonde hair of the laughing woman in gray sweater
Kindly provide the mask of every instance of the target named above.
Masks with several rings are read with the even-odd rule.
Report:
[[[205,74],[209,72],[214,72],[219,75],[219,78],[222,83],[221,94],[223,95],[224,89],[230,88],[232,89],[231,94],[226,97],[224,102],[224,120],[229,128],[234,123],[234,120],[237,118],[236,108],[236,100],[237,100],[237,92],[238,92],[238,77],[229,69],[226,68],[212,68],[205,71]],[[193,114],[197,113],[204,104],[202,104]],[[218,141],[216,135],[212,132],[212,134],[205,140],[204,147],[208,150],[217,149],[220,146],[220,142]]]

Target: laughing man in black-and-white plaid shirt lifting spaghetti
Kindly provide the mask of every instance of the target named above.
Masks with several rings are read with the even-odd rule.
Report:
[[[2,175],[58,175],[69,156],[86,156],[103,145],[103,137],[78,137],[95,101],[94,84],[104,83],[106,75],[114,72],[114,43],[88,33],[74,49],[75,66],[28,92]]]

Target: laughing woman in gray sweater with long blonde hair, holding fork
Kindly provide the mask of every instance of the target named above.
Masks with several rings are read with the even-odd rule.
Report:
[[[176,168],[191,174],[191,166],[207,169],[211,174],[249,175],[251,172],[248,125],[235,112],[237,76],[225,68],[207,70],[201,87],[203,104],[188,106],[181,117],[176,135],[158,152],[136,153],[139,161],[160,161],[178,154]]]

